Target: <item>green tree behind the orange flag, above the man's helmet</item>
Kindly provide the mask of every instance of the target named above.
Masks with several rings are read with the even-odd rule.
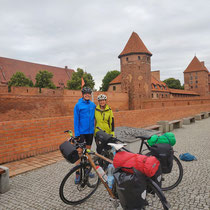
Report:
[[[84,72],[83,69],[78,68],[76,72],[72,74],[71,80],[67,82],[67,88],[70,90],[81,90],[81,78],[84,79],[85,86],[93,89],[95,82],[90,73]]]

